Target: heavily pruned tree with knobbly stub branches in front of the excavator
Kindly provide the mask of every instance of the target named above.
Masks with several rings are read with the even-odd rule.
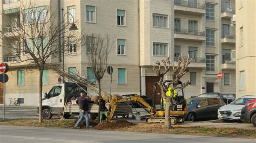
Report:
[[[191,58],[188,58],[187,60],[185,60],[183,58],[183,56],[179,56],[179,61],[178,61],[177,67],[174,67],[174,65],[172,64],[172,73],[171,73],[172,82],[169,82],[167,84],[167,86],[163,85],[163,81],[164,81],[164,75],[169,73],[169,71],[170,71],[170,67],[171,67],[170,57],[168,57],[167,59],[161,60],[161,62],[163,63],[163,66],[165,68],[163,73],[161,73],[161,70],[160,70],[161,63],[159,61],[156,62],[156,64],[158,65],[158,68],[153,66],[153,70],[156,71],[156,75],[158,77],[160,77],[160,80],[157,83],[158,83],[159,87],[161,88],[161,97],[164,98],[165,102],[166,102],[165,127],[167,127],[167,128],[172,128],[171,123],[170,123],[170,109],[173,106],[172,97],[174,95],[174,90],[184,89],[187,87],[187,85],[190,84],[190,82],[187,81],[183,87],[177,86],[180,78],[183,77],[183,75],[185,75],[188,72],[188,65],[190,64],[191,60],[192,60]],[[166,96],[165,93],[170,85],[173,85],[173,87],[171,89],[171,96]]]

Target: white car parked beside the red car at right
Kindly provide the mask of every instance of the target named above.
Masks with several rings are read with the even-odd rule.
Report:
[[[221,120],[240,120],[241,110],[245,106],[245,103],[255,98],[256,95],[246,95],[228,105],[221,106],[218,110],[218,118]]]

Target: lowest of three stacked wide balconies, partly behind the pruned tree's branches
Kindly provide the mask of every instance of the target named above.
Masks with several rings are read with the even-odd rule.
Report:
[[[184,56],[184,59],[187,60],[187,57]],[[174,62],[176,62],[175,65],[177,65],[178,61],[179,61],[179,57],[174,56]],[[192,58],[192,61],[188,67],[205,68],[206,67],[205,62],[206,62],[205,58]]]

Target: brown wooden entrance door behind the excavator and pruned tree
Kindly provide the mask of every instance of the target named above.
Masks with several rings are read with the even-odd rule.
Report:
[[[152,100],[154,99],[153,95],[153,89],[154,84],[156,84],[157,81],[159,81],[159,77],[156,76],[146,76],[146,95],[149,96]],[[157,85],[157,91],[156,91],[156,104],[160,104],[161,99],[161,89],[159,85]]]

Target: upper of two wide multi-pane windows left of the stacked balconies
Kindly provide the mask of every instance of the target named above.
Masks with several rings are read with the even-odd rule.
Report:
[[[153,26],[167,27],[167,15],[153,13]]]

